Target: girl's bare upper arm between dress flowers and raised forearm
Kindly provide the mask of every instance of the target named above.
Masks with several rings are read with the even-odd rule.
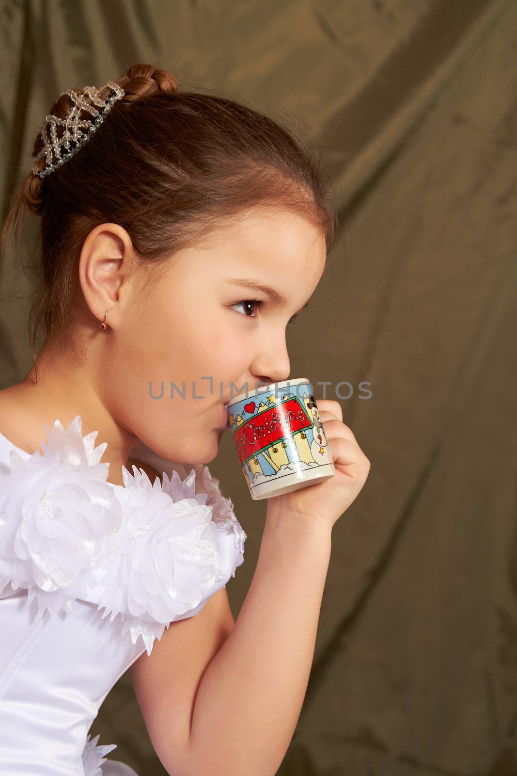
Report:
[[[171,622],[129,672],[153,747],[168,773],[183,773],[203,674],[233,631],[226,587],[192,617]]]

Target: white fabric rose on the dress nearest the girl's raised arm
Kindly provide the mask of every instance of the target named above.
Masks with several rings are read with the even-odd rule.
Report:
[[[115,554],[105,575],[98,575],[105,590],[102,616],[122,613],[122,632],[131,630],[133,641],[142,636],[150,653],[165,625],[197,608],[214,584],[226,578],[220,544],[228,542],[222,533],[231,521],[229,515],[225,525],[212,519],[212,505],[205,504],[208,494],[195,493],[195,469],[183,481],[175,471],[171,479],[163,473],[162,485],[158,477],[151,483],[136,466],[133,476],[123,469],[122,478],[124,519]],[[213,500],[213,491],[211,495]],[[235,558],[233,574],[240,563],[242,553]]]

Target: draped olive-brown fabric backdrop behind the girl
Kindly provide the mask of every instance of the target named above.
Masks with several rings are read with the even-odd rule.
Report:
[[[12,0],[2,36],[4,217],[57,94],[135,62],[306,127],[346,204],[329,272],[288,335],[291,375],[329,381],[327,398],[353,386],[344,421],[371,473],[333,530],[278,773],[517,774],[517,4]],[[2,386],[29,365],[34,234],[29,219],[2,256]],[[265,505],[226,436],[210,468],[248,534],[228,585],[236,617]],[[229,735],[234,712],[221,709]],[[92,733],[140,776],[165,773],[129,674]]]

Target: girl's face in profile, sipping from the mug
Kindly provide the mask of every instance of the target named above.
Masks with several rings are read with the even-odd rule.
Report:
[[[92,276],[112,294],[111,310],[110,300],[95,300],[97,308],[106,302],[111,324],[95,338],[103,403],[161,456],[211,461],[225,401],[257,382],[288,379],[286,327],[325,262],[325,237],[312,223],[260,207],[178,252],[157,277],[135,262],[126,275],[129,262],[101,264],[104,275],[99,268]]]

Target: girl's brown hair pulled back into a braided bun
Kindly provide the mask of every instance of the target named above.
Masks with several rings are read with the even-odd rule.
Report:
[[[2,229],[3,250],[11,227],[19,234],[24,210],[40,216],[38,286],[27,322],[33,359],[40,331],[73,328],[78,258],[98,223],[122,226],[136,254],[155,265],[259,204],[285,206],[321,227],[327,252],[336,238],[338,217],[326,202],[333,192],[312,144],[222,95],[181,92],[171,73],[152,64],[133,64],[116,82],[125,95],[95,135],[50,175],[30,172]],[[108,95],[106,88],[101,96]],[[49,113],[64,118],[72,104],[61,95]],[[38,133],[33,157],[42,148]]]

